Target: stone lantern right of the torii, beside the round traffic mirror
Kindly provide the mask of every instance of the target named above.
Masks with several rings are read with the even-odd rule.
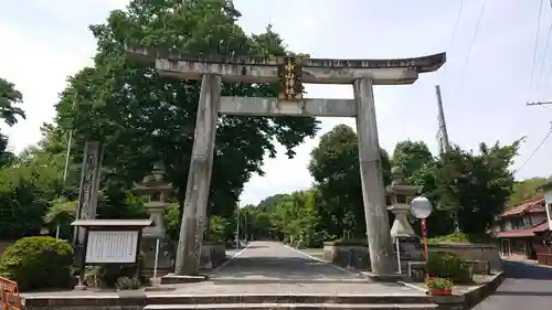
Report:
[[[391,237],[393,244],[400,242],[401,259],[402,260],[418,260],[423,258],[422,247],[420,246],[420,236],[414,233],[408,223],[410,201],[422,191],[422,186],[404,184],[404,172],[401,167],[391,169],[393,182],[385,188],[389,206],[388,210],[393,212],[395,221],[391,227]]]

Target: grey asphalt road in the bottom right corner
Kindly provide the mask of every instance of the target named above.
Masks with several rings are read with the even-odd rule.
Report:
[[[552,309],[552,268],[505,261],[507,279],[474,310]]]

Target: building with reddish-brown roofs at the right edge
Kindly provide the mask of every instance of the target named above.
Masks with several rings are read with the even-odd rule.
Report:
[[[548,205],[550,207],[552,201]],[[537,259],[537,253],[549,253],[545,240],[550,234],[550,211],[546,209],[544,196],[539,196],[497,216],[491,231],[499,240],[502,256]]]

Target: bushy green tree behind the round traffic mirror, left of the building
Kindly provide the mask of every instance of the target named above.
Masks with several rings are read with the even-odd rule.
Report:
[[[428,226],[435,225],[439,234],[450,233],[452,227],[465,234],[485,234],[512,192],[510,165],[518,148],[519,141],[509,146],[497,142],[490,148],[481,143],[475,154],[455,147],[434,165],[415,172],[415,183],[424,185],[437,209]]]

